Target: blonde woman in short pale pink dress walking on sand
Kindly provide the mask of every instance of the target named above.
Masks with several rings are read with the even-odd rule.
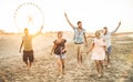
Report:
[[[92,51],[91,59],[95,62],[95,68],[99,78],[101,78],[103,73],[103,61],[105,59],[105,50],[106,47],[103,38],[101,38],[101,31],[96,31],[94,42],[89,48],[89,51],[86,53]]]

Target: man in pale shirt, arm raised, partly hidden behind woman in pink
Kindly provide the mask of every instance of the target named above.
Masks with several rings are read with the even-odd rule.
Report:
[[[119,25],[116,27],[116,29],[112,32],[109,32],[106,27],[103,28],[103,39],[105,40],[106,48],[108,48],[108,53],[106,53],[108,68],[110,68],[109,64],[110,64],[110,54],[111,54],[111,48],[112,48],[111,47],[111,35],[119,30],[120,25],[121,25],[121,21],[119,22]]]

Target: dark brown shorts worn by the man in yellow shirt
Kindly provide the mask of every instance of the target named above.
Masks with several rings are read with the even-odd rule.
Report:
[[[31,51],[23,51],[23,61],[27,62],[28,60],[30,62],[33,62],[33,60],[34,60],[33,50],[31,50]]]

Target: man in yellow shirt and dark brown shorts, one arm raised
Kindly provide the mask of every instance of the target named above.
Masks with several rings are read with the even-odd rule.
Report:
[[[22,37],[22,42],[19,52],[21,53],[21,49],[23,47],[23,62],[27,64],[28,70],[30,70],[32,62],[34,60],[32,39],[39,35],[43,27],[41,27],[40,31],[34,35],[29,34],[29,30],[27,28],[24,29],[24,35]]]

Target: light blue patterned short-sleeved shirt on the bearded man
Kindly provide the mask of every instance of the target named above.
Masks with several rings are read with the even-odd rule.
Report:
[[[74,28],[73,30],[74,30],[74,38],[73,38],[74,43],[83,43],[85,30],[82,29],[81,32],[78,30],[78,28]]]

